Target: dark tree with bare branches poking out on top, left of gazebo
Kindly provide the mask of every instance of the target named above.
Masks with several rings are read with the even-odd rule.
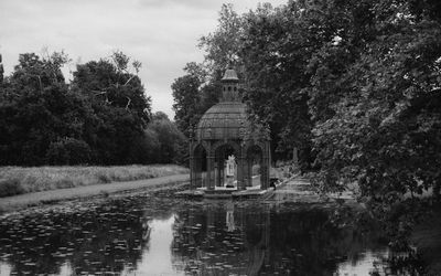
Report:
[[[150,98],[140,78],[129,72],[130,59],[116,52],[111,60],[77,65],[73,91],[89,99],[96,119],[85,140],[98,163],[146,162],[144,128],[150,120]],[[132,66],[138,73],[140,63]]]

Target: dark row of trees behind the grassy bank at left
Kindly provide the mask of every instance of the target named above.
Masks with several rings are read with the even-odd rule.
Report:
[[[182,162],[183,134],[121,52],[79,64],[66,83],[65,53],[21,54],[0,83],[0,166]]]

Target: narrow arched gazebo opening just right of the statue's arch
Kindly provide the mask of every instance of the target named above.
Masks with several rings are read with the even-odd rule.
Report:
[[[254,145],[247,150],[247,187],[261,185],[265,182],[263,150]]]

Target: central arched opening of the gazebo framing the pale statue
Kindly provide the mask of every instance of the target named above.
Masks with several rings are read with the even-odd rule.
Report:
[[[229,144],[215,150],[214,180],[216,187],[237,189],[238,152]]]

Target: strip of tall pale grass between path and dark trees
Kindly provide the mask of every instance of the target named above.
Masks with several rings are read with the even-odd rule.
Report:
[[[1,167],[0,198],[110,182],[133,181],[186,173],[175,164],[116,167]]]

